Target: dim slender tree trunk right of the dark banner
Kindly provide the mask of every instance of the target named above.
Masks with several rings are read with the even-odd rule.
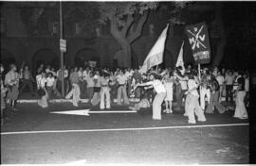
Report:
[[[213,59],[212,66],[219,66],[225,52],[225,46],[227,43],[227,34],[225,33],[224,24],[222,21],[222,5],[217,5],[216,11],[215,11],[215,19],[216,24],[218,25],[218,30],[220,34],[220,41],[217,44],[217,50],[215,58]]]

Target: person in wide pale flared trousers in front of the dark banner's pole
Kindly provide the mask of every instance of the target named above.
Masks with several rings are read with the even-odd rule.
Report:
[[[194,114],[198,117],[198,121],[205,122],[206,117],[202,108],[199,106],[198,98],[199,94],[197,89],[199,84],[195,82],[195,74],[191,72],[189,74],[188,88],[189,90],[185,93],[187,94],[186,102],[185,102],[185,112],[189,117],[189,124],[196,124]]]

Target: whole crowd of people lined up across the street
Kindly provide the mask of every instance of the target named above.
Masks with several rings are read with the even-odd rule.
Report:
[[[234,117],[247,119],[249,75],[245,71],[215,67],[204,68],[198,75],[198,71],[188,65],[186,69],[181,66],[174,69],[156,67],[146,74],[139,73],[139,69],[111,70],[89,66],[64,66],[62,72],[44,64],[35,73],[27,65],[17,70],[16,65],[10,64],[8,70],[2,75],[4,67],[1,65],[1,117],[4,119],[5,109],[17,111],[17,99],[27,87],[31,95],[40,96],[38,105],[42,108],[47,108],[49,100],[56,97],[72,98],[74,107],[86,98],[92,106],[100,104],[101,109],[111,108],[116,98],[117,104],[124,106],[130,106],[129,98],[139,98],[140,101],[130,108],[139,111],[152,106],[155,120],[161,120],[162,107],[165,113],[181,112],[185,108],[184,116],[190,124],[195,124],[194,114],[198,121],[206,121],[205,113],[213,113],[215,109],[224,113],[235,103]],[[64,96],[61,94],[62,77]],[[226,106],[222,103],[224,96]]]

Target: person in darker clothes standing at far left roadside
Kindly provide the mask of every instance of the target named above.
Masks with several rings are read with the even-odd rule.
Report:
[[[19,74],[16,72],[17,67],[14,64],[9,65],[9,73],[5,77],[5,85],[8,87],[8,96],[7,98],[9,99],[9,105],[11,110],[17,110],[16,104],[17,104],[17,99],[19,96]]]

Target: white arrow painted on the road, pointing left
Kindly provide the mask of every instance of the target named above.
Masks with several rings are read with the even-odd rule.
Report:
[[[78,109],[78,110],[52,111],[50,113],[90,116],[89,113],[137,113],[137,111],[130,110],[130,109],[129,110],[93,110],[93,111],[90,111],[90,109]]]

